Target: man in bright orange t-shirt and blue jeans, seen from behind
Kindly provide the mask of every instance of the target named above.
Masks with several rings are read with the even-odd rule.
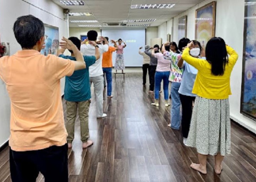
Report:
[[[108,37],[105,37],[108,41]],[[112,53],[116,51],[116,42],[111,40],[112,43],[115,44],[115,47],[109,46],[108,51],[103,53],[103,59],[102,59],[102,69],[103,69],[103,76],[106,74],[106,79],[107,79],[107,93],[108,93],[108,98],[112,98]],[[103,42],[103,44],[105,44]],[[104,80],[105,84],[105,80]]]

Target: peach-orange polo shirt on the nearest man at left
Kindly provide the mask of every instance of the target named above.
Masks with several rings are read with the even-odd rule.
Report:
[[[75,63],[36,50],[0,58],[0,77],[11,101],[9,145],[14,151],[41,150],[66,143],[60,79]]]

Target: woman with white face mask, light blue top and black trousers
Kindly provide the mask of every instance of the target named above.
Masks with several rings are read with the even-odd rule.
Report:
[[[194,48],[190,49],[190,55],[195,58],[199,58],[202,52],[201,44],[196,40],[193,40],[193,43]],[[179,66],[180,69],[183,69],[182,82],[178,92],[180,94],[180,102],[182,106],[181,128],[183,134],[183,143],[185,145],[187,142],[190,120],[192,116],[192,106],[196,99],[196,95],[192,93],[192,89],[197,76],[197,69],[183,61],[182,58],[179,60],[177,66]]]

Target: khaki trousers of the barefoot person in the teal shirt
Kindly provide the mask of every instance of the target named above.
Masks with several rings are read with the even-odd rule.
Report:
[[[67,121],[65,123],[66,129],[68,132],[67,142],[72,143],[74,140],[74,132],[75,132],[75,121],[76,121],[76,113],[78,109],[78,116],[80,120],[80,128],[81,128],[81,140],[83,143],[87,142],[89,135],[89,107],[90,100],[82,101],[82,102],[70,102],[66,101],[67,107]]]

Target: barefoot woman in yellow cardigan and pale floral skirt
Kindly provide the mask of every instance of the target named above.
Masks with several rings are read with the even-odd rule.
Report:
[[[183,51],[182,59],[194,66],[198,73],[192,91],[197,97],[186,145],[197,149],[199,159],[199,164],[192,163],[190,167],[206,174],[207,155],[214,155],[214,170],[220,174],[222,160],[230,154],[231,148],[230,75],[238,55],[220,37],[207,43],[207,61],[190,56],[190,48],[193,48],[193,42]]]

